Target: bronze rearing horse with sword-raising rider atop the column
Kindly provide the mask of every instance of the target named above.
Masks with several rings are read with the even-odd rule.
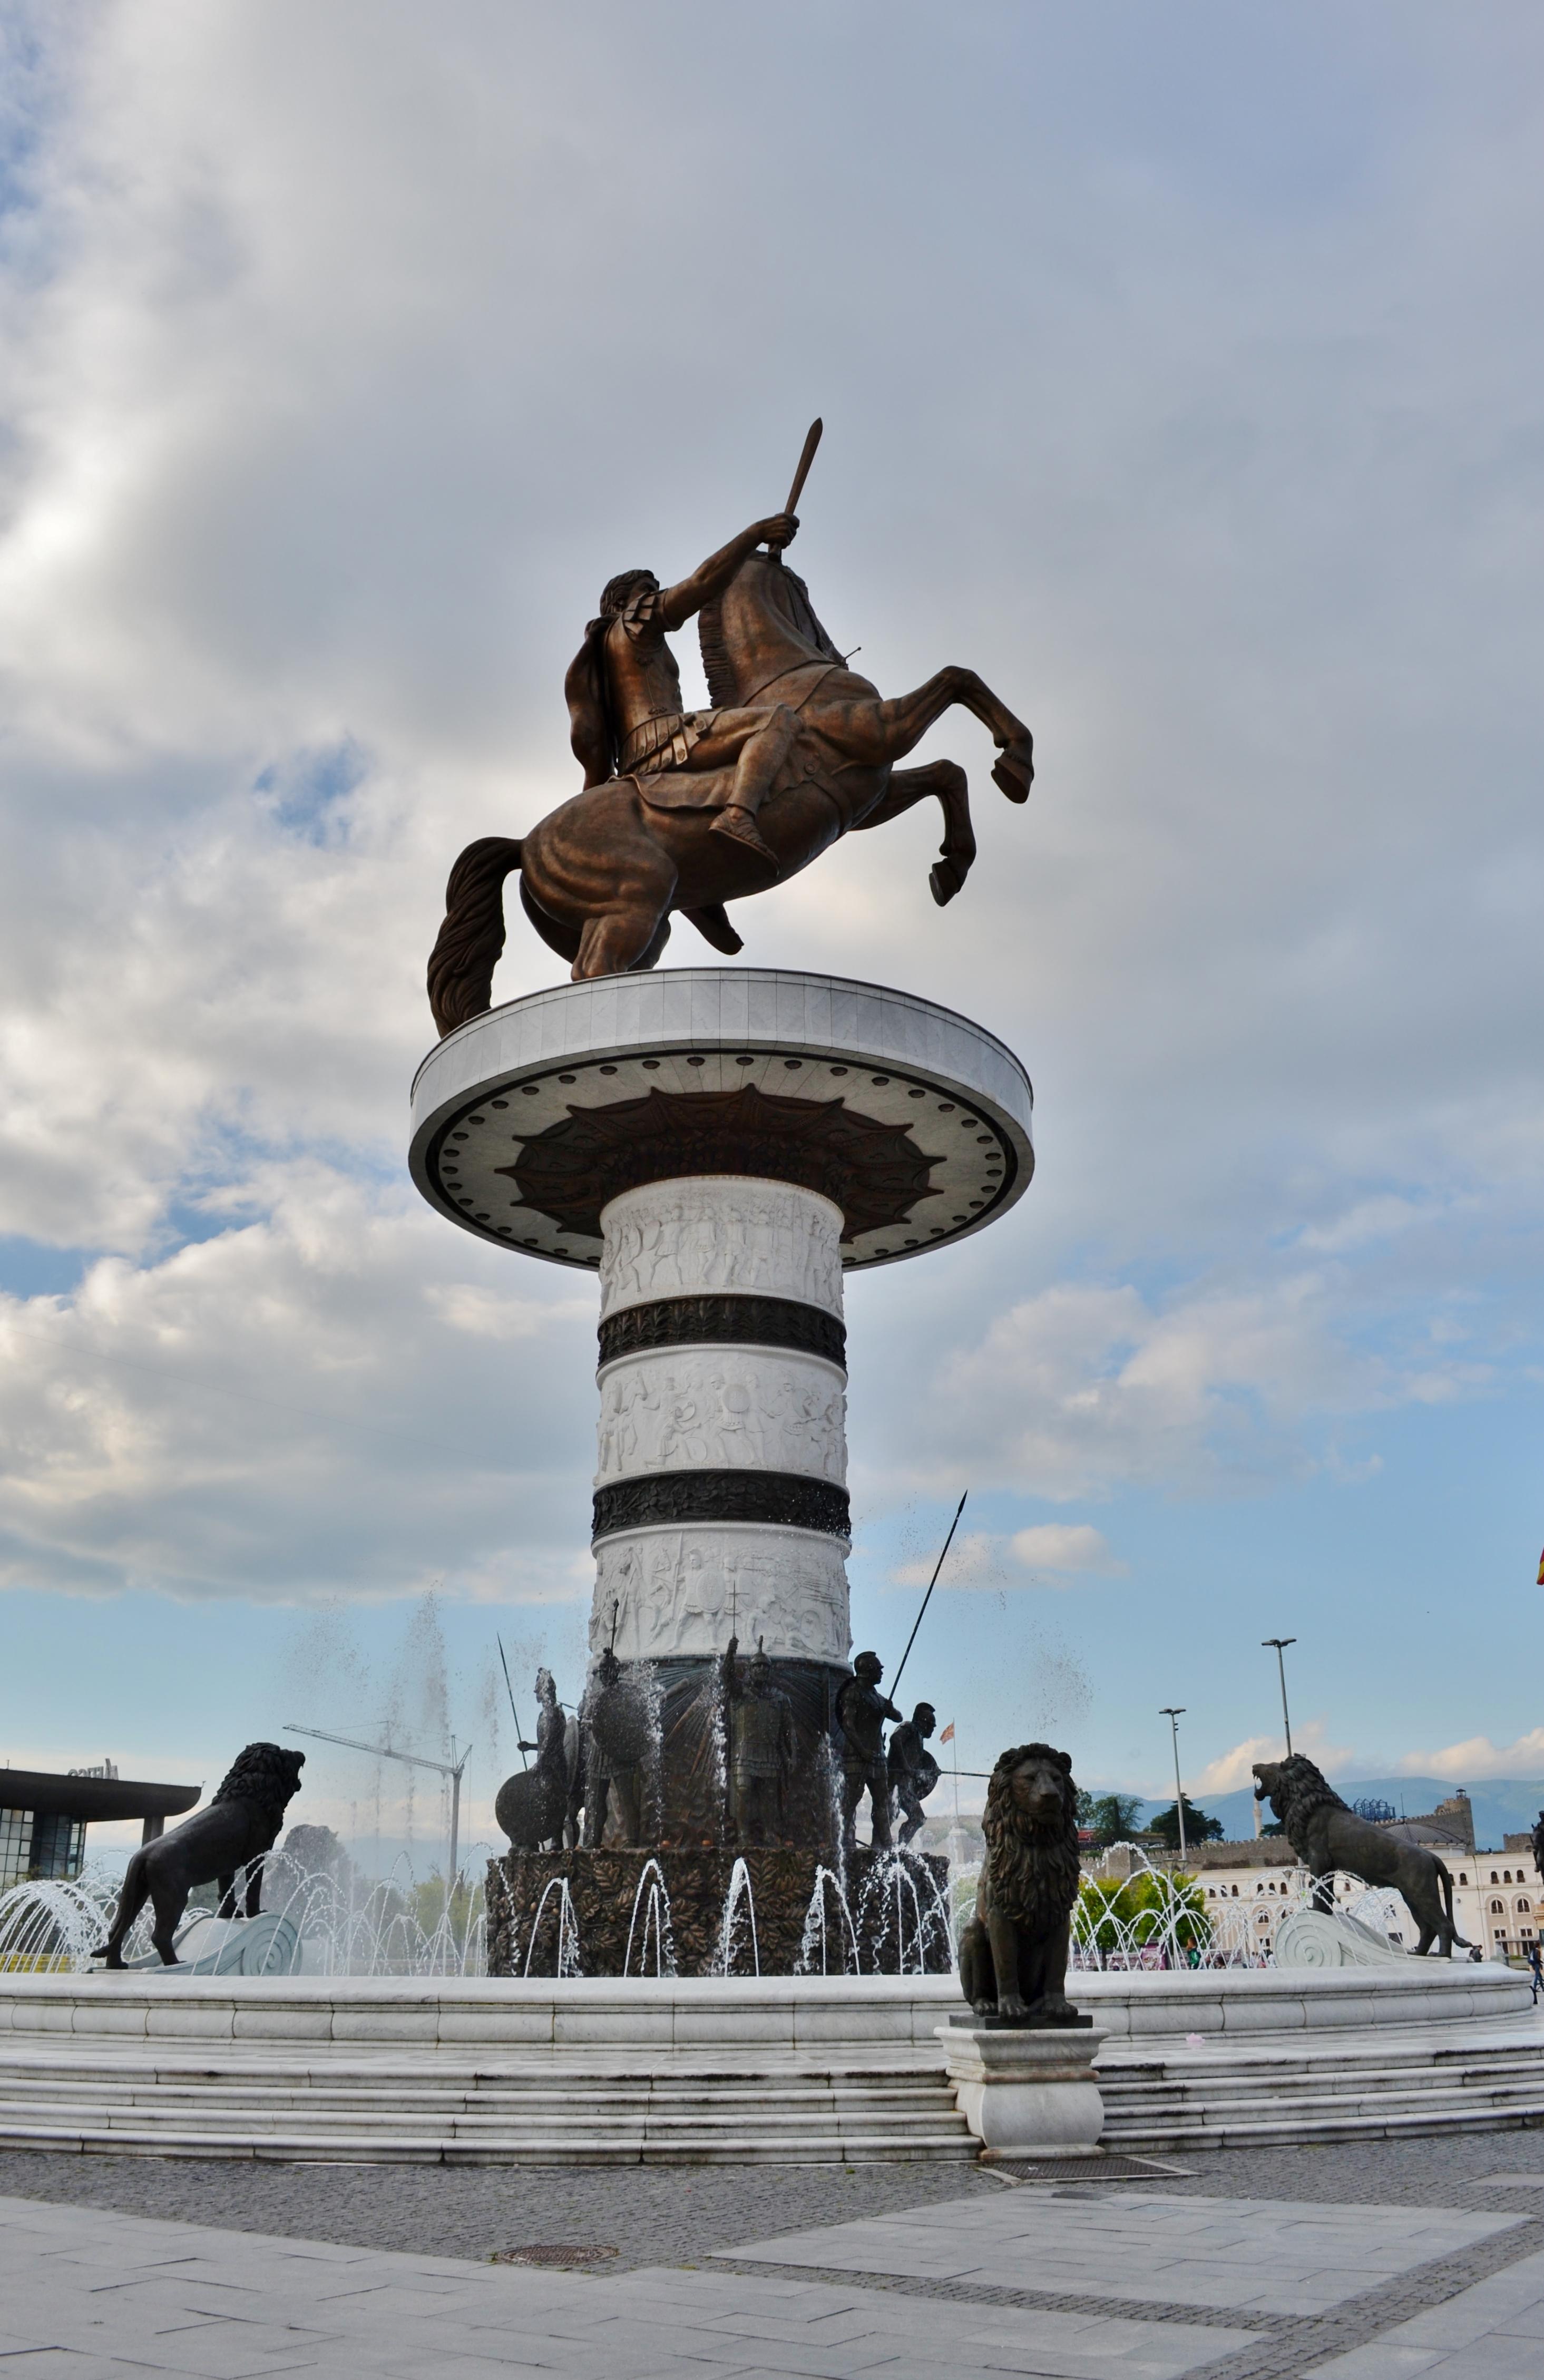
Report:
[[[526,916],[573,978],[616,976],[654,966],[676,912],[733,957],[742,942],[728,902],[785,883],[840,835],[885,826],[925,795],[944,814],[933,900],[954,900],[975,859],[966,771],[952,759],[897,762],[956,702],[992,733],[994,783],[1011,802],[1028,800],[1030,731],[973,669],[940,669],[885,700],[847,669],[785,566],[816,436],[818,424],[785,512],[752,521],[676,585],[633,569],[602,590],[566,678],[585,790],[528,835],[469,843],[450,871],[428,962],[443,1035],[490,1007],[514,871]],[[669,645],[692,616],[704,712],[683,709]]]

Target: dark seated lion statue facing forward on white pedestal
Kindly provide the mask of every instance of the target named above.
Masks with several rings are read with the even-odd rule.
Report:
[[[978,2016],[1013,2025],[1087,2025],[1066,1997],[1078,1899],[1073,1761],[1049,1745],[1013,1745],[987,1785],[987,1856],[975,1916],[959,1942],[959,1983]]]

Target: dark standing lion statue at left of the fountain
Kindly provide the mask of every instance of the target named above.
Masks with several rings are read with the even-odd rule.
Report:
[[[305,1752],[283,1745],[247,1745],[224,1775],[207,1809],[193,1811],[169,1835],[143,1842],[124,1871],[117,1916],[93,1959],[124,1966],[124,1940],[145,1902],[155,1904],[150,1940],[164,1966],[178,1966],[171,1937],[195,1885],[219,1883],[219,1914],[238,1914],[236,1875],[247,1871],[247,1916],[262,1909],[262,1861],[278,1840],[283,1814],[300,1792]]]

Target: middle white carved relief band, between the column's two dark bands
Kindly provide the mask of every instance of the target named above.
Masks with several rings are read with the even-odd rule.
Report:
[[[847,1478],[847,1397],[816,1357],[669,1347],[611,1364],[595,1485],[638,1471],[804,1471]]]

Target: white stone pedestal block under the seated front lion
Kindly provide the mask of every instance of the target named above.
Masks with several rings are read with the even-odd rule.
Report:
[[[1104,2033],[1085,2025],[937,2025],[954,2102],[980,2140],[983,2163],[1006,2156],[1097,2156],[1104,2099],[1094,2056]]]

